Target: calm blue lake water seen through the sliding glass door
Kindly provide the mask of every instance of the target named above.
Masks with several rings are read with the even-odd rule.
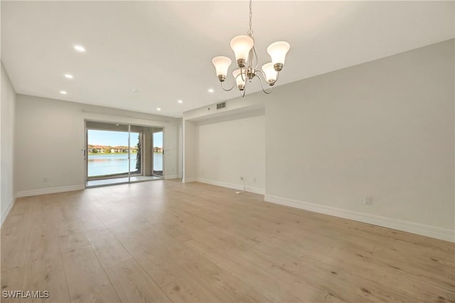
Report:
[[[131,171],[136,171],[137,154],[131,154]],[[163,154],[154,153],[154,170],[163,170]],[[89,154],[88,176],[105,176],[128,173],[128,154]]]

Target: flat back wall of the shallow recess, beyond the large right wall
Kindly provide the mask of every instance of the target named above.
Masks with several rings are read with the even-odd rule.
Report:
[[[198,126],[198,181],[264,193],[264,110],[227,121],[200,122]]]

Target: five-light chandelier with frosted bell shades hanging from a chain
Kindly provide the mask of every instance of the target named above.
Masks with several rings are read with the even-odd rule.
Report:
[[[250,29],[247,36],[237,36],[230,41],[230,47],[234,50],[235,60],[237,61],[237,70],[232,72],[235,83],[232,87],[225,88],[223,83],[228,75],[228,69],[232,61],[228,57],[218,56],[213,58],[212,63],[215,65],[216,75],[220,80],[221,88],[225,91],[232,90],[237,84],[242,97],[245,96],[247,83],[251,83],[253,78],[258,78],[261,83],[262,91],[266,94],[272,92],[272,86],[277,83],[279,72],[283,69],[286,54],[291,47],[286,41],[278,41],[269,45],[267,53],[272,58],[272,62],[262,65],[262,70],[257,69],[257,55],[255,50],[255,38],[253,38],[252,30],[252,0],[250,0]],[[264,89],[262,78],[269,85],[268,89]]]

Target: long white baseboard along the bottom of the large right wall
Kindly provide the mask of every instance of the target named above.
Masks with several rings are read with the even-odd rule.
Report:
[[[348,211],[342,208],[334,208],[331,206],[323,206],[314,203],[308,203],[289,198],[282,198],[277,196],[265,195],[264,200],[267,202],[277,203],[285,206],[301,208],[306,211],[314,211],[315,213],[324,213],[330,216],[336,216],[349,220],[355,220],[363,223],[379,225],[385,228],[392,228],[396,230],[406,231],[408,233],[415,233],[417,235],[425,235],[431,238],[455,242],[455,231],[446,228],[438,228],[431,225],[424,225],[405,220],[397,220],[382,216],[370,215],[368,213],[358,213],[355,211]]]

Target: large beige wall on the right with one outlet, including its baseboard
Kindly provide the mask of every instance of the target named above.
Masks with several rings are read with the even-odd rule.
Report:
[[[454,240],[454,40],[276,87],[266,125],[267,201]]]

